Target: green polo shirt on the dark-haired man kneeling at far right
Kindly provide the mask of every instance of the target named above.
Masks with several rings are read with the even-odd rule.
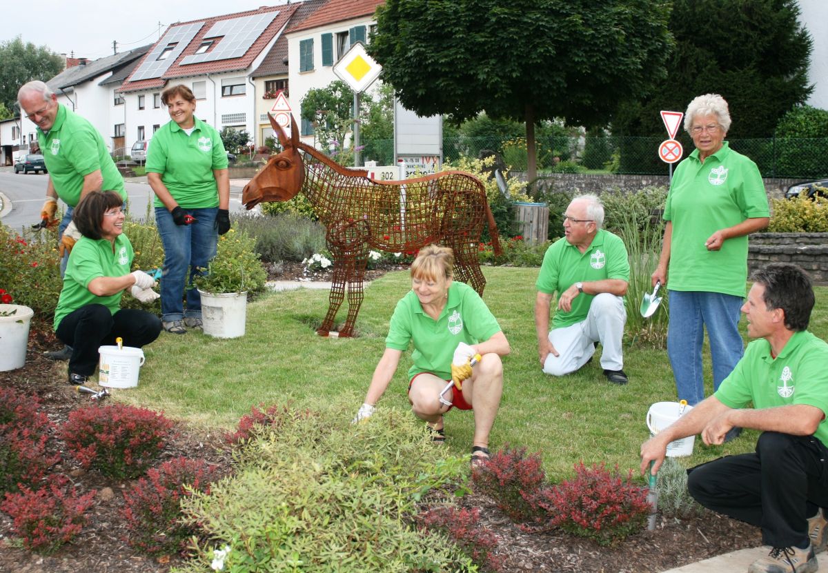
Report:
[[[808,404],[828,416],[828,344],[806,330],[795,333],[773,359],[765,339],[748,344],[744,357],[714,394],[731,408],[773,408]],[[828,445],[828,420],[814,434]]]

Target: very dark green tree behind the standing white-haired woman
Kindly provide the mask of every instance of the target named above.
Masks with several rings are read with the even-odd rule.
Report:
[[[660,110],[684,111],[700,94],[721,94],[729,137],[772,137],[779,118],[811,94],[812,40],[797,0],[673,0],[676,38],[663,89],[623,104],[615,135],[663,135]]]

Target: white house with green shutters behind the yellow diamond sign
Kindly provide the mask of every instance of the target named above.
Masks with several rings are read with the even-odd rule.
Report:
[[[286,32],[289,102],[301,121],[301,135],[313,142],[313,127],[300,120],[301,100],[310,89],[325,88],[335,81],[334,65],[355,42],[368,43],[377,25],[374,12],[384,0],[329,0]]]

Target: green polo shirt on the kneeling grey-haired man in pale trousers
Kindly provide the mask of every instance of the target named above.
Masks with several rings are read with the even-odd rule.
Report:
[[[627,248],[617,235],[598,229],[590,248],[581,253],[566,237],[559,238],[546,249],[537,276],[535,288],[551,295],[566,291],[575,282],[603,281],[607,278],[629,282]],[[575,296],[569,312],[558,309],[552,318],[552,328],[563,328],[586,319],[595,295],[585,292]]]

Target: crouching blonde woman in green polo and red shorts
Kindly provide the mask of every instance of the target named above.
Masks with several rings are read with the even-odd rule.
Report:
[[[445,440],[443,416],[453,407],[474,410],[472,465],[489,458],[489,432],[503,393],[503,363],[509,343],[483,299],[468,285],[454,282],[454,253],[429,245],[412,263],[412,290],[391,317],[385,353],[374,370],[365,402],[354,421],[370,417],[397,371],[402,353],[414,343],[408,371],[412,412],[427,422],[432,440]],[[479,364],[471,360],[480,355]],[[454,387],[443,396],[451,380]]]

